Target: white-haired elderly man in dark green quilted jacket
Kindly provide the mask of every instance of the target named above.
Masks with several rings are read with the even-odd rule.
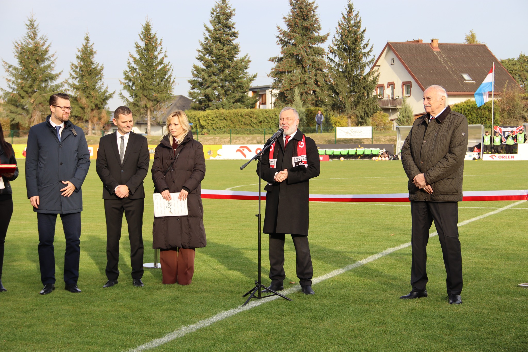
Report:
[[[449,304],[462,300],[462,256],[458,240],[458,202],[462,201],[467,119],[451,111],[446,90],[431,85],[423,92],[427,114],[414,120],[401,151],[409,177],[412,218],[412,290],[402,299],[427,297],[427,241],[435,221],[446,267]]]

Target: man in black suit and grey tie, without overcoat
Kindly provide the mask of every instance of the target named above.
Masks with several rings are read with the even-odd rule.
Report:
[[[119,239],[123,212],[128,224],[132,279],[136,287],[145,286],[143,277],[143,210],[149,153],[147,139],[131,132],[132,111],[121,106],[114,112],[117,132],[101,137],[96,170],[103,184],[106,215],[106,276],[103,287],[117,284],[119,277]]]

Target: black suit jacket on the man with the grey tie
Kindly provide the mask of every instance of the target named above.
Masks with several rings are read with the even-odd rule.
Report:
[[[129,189],[129,199],[145,198],[143,180],[147,176],[150,161],[147,138],[130,132],[121,164],[117,134],[118,132],[114,132],[99,139],[96,170],[103,185],[102,197],[120,199],[115,188],[126,185]]]

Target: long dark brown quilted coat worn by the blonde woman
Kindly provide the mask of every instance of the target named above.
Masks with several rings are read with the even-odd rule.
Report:
[[[175,161],[176,155],[178,156]],[[164,176],[167,169],[168,172]],[[205,177],[205,157],[202,144],[194,140],[192,132],[189,131],[174,153],[168,136],[165,136],[156,147],[151,172],[154,192],[161,193],[168,189],[171,193],[177,193],[185,189],[189,193],[187,216],[154,217],[152,248],[205,247],[207,242],[201,197],[201,181]]]

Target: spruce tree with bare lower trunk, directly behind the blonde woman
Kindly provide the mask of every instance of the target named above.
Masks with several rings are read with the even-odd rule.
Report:
[[[147,135],[150,136],[150,122],[155,112],[162,111],[171,100],[174,79],[172,64],[163,51],[162,40],[152,30],[150,21],[145,21],[135,42],[136,56],[129,53],[127,69],[123,71],[124,81],[121,99],[135,114],[147,120]],[[128,93],[128,97],[123,94]]]

